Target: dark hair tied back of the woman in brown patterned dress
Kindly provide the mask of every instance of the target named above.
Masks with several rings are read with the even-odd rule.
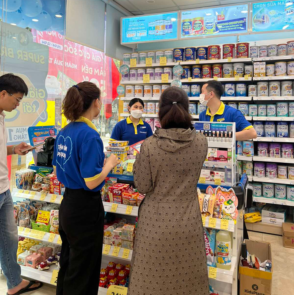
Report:
[[[165,89],[160,96],[158,117],[164,129],[191,127],[187,93],[176,86]]]

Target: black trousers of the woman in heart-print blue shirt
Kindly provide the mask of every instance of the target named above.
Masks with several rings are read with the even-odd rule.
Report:
[[[101,192],[65,189],[59,210],[62,240],[56,295],[97,295],[103,247]]]

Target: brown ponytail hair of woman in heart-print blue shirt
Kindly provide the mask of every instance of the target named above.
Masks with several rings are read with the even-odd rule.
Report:
[[[100,100],[100,96],[100,89],[92,82],[85,81],[73,85],[63,99],[62,113],[69,121],[76,121],[90,108],[94,100]]]

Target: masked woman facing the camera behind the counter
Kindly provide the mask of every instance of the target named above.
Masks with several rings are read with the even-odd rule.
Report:
[[[143,110],[144,102],[142,99],[133,98],[128,106],[130,116],[116,123],[110,140],[127,140],[129,145],[133,145],[153,135],[150,125],[141,119]]]

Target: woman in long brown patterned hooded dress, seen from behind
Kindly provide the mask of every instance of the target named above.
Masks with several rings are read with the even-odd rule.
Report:
[[[208,295],[197,182],[207,140],[197,133],[188,96],[178,87],[160,97],[162,128],[147,138],[134,163],[146,197],[139,209],[128,295]]]

